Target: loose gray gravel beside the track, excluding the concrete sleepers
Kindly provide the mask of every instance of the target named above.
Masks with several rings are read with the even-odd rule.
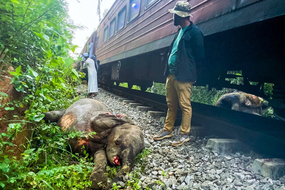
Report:
[[[80,85],[77,92],[84,97],[87,85]],[[171,139],[154,141],[151,135],[163,128],[159,118],[148,116],[145,112],[137,112],[122,102],[111,99],[101,93],[95,99],[104,103],[111,113],[127,114],[133,121],[142,126],[145,148],[152,153],[144,162],[144,171],[137,172],[141,189],[274,189],[285,190],[285,176],[279,180],[271,180],[251,171],[251,165],[257,158],[264,158],[253,151],[234,154],[217,154],[205,146],[209,138],[216,136],[194,137],[182,146],[172,147],[171,142],[177,135],[178,126],[174,127]],[[135,166],[134,169],[140,169]],[[131,176],[126,175],[125,180]],[[161,183],[163,184],[161,184]],[[125,183],[119,182],[124,187]]]

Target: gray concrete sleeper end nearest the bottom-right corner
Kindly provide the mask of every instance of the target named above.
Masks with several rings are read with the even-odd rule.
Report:
[[[251,169],[264,177],[278,180],[285,175],[285,159],[255,159]]]

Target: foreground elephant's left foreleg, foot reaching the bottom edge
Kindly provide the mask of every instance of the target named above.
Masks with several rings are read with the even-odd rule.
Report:
[[[92,181],[91,189],[101,189],[102,185],[107,182],[106,166],[107,156],[105,150],[98,150],[94,154],[95,166],[92,170],[90,180]],[[100,185],[98,185],[100,183]]]

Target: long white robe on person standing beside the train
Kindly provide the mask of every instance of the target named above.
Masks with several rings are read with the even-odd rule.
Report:
[[[97,71],[93,59],[88,58],[83,64],[83,68],[88,70],[88,93],[98,92]]]

